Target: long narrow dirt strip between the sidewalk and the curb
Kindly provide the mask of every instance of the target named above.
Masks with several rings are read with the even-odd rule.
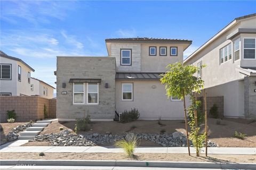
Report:
[[[131,160],[123,153],[44,153],[35,152],[0,153],[2,159],[69,159],[69,160]],[[172,162],[222,162],[222,163],[255,163],[255,155],[208,155],[196,157],[188,154],[136,154],[137,160],[172,161]]]

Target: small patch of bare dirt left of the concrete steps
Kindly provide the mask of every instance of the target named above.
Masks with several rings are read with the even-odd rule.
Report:
[[[19,125],[25,124],[27,122],[18,122],[18,123],[0,123],[1,129],[1,145],[6,143],[5,135],[7,135],[13,128],[16,128]]]

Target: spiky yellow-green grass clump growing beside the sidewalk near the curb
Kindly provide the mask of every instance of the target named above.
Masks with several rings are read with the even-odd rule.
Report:
[[[134,158],[135,148],[138,146],[138,138],[134,133],[127,133],[125,139],[121,139],[115,143],[115,146],[124,149],[125,153]]]

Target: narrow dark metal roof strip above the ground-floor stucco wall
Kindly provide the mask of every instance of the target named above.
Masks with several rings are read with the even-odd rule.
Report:
[[[162,73],[151,73],[151,72],[142,72],[142,73],[116,73],[116,80],[159,80],[160,74]]]

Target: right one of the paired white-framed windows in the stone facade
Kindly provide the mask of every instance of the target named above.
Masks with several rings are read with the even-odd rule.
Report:
[[[87,104],[99,104],[99,83],[87,83]]]

